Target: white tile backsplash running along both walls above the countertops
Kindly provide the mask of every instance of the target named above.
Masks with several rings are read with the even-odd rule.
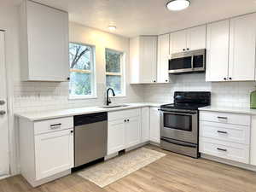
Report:
[[[172,75],[170,84],[127,84],[125,97],[113,98],[123,102],[173,102],[174,91],[212,91],[212,105],[222,107],[249,107],[250,92],[255,82],[205,81],[205,74]],[[16,82],[15,112],[61,108],[101,106],[105,103],[105,84],[97,84],[97,98],[68,99],[68,83]]]

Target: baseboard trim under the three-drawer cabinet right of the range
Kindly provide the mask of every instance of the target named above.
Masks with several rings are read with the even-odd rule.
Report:
[[[239,167],[239,168],[242,168],[242,169],[246,169],[246,170],[249,170],[249,171],[256,172],[256,166],[236,162],[234,160],[225,160],[223,158],[215,157],[215,156],[212,156],[210,154],[202,154],[202,153],[201,153],[201,158],[207,159],[207,160],[217,161],[219,163],[227,164],[227,165],[230,165],[230,166],[236,166],[236,167]]]

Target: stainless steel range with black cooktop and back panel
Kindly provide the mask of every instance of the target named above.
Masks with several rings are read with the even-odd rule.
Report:
[[[198,108],[210,103],[211,92],[175,92],[174,103],[160,107],[160,147],[198,158]]]

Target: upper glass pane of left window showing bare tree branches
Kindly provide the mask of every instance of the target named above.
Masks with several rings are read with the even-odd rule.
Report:
[[[91,47],[84,44],[69,44],[69,65],[70,68],[90,70]]]

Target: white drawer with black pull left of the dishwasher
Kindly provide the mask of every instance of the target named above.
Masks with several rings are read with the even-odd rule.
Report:
[[[69,128],[73,128],[73,117],[40,120],[34,124],[35,135]]]

